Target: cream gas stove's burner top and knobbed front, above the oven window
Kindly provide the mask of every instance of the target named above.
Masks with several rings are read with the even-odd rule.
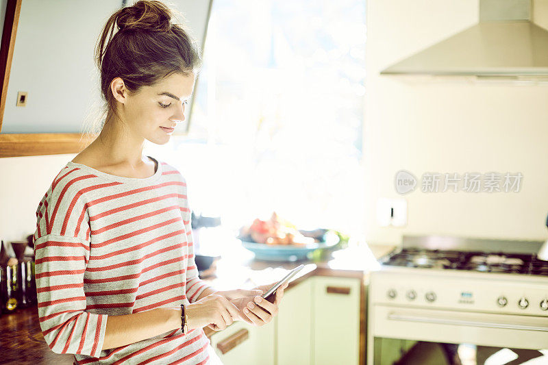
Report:
[[[369,278],[367,364],[388,361],[378,351],[394,343],[473,344],[478,353],[548,349],[548,262],[536,256],[542,243],[404,236]]]

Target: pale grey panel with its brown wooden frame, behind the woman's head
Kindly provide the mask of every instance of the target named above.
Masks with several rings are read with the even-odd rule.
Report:
[[[201,49],[212,1],[166,2],[184,15]],[[0,0],[0,158],[78,153],[92,142],[95,137],[83,133],[84,123],[103,107],[95,42],[108,17],[132,3]],[[188,133],[194,99],[186,108],[188,123],[173,135]]]

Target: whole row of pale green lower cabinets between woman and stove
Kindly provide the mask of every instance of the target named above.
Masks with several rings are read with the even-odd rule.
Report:
[[[360,288],[360,279],[309,277],[284,293],[269,324],[235,322],[211,345],[224,365],[357,365]]]

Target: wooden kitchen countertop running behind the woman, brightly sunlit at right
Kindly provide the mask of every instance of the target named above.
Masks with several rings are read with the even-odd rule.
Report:
[[[394,248],[395,246],[386,245],[351,246],[326,252],[323,259],[316,261],[266,262],[254,260],[253,253],[241,246],[234,246],[231,250],[223,253],[220,260],[216,261],[214,275],[203,277],[203,280],[216,290],[251,289],[281,279],[292,268],[304,264],[303,270],[292,279],[286,290],[291,290],[293,286],[312,275],[356,277],[363,283],[364,275],[378,265],[377,258],[386,255]],[[364,304],[362,303],[362,305]],[[364,312],[362,310],[363,315]],[[72,354],[56,354],[47,346],[38,323],[36,305],[19,309],[12,314],[2,314],[0,328],[2,329],[0,343],[3,364],[24,362],[51,364],[55,362],[62,365],[73,362]],[[210,337],[215,331],[204,327],[204,332]]]

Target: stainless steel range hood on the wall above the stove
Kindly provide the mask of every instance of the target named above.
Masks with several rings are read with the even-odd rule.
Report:
[[[548,31],[530,18],[530,0],[479,0],[479,23],[381,74],[546,79]]]

